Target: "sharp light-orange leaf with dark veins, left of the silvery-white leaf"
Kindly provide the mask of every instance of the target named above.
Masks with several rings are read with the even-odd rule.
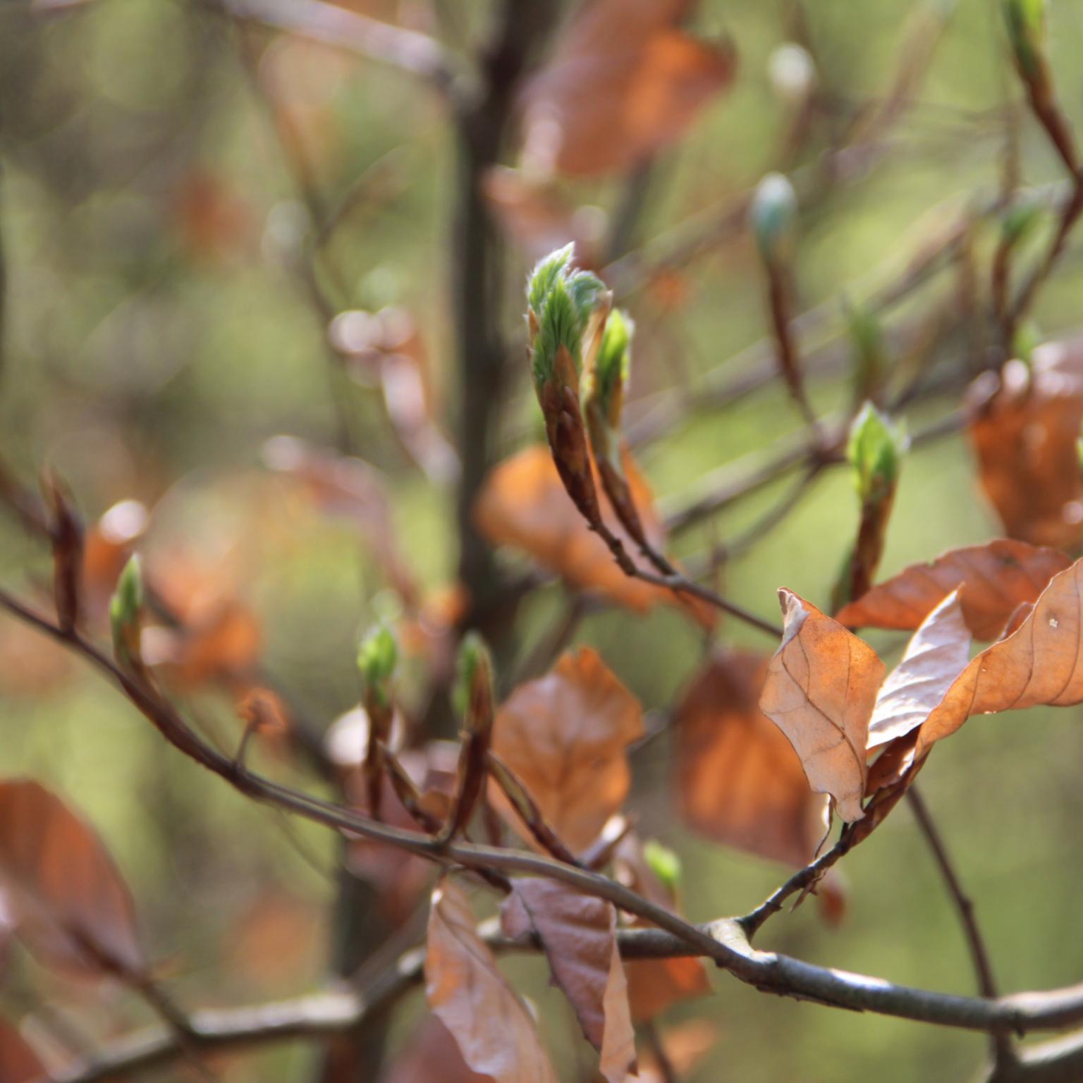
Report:
[[[759,705],[790,739],[809,785],[831,794],[838,814],[860,820],[865,744],[884,663],[837,621],[785,588],[782,645]]]

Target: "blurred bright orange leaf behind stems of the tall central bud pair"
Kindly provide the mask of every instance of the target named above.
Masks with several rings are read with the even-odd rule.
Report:
[[[625,475],[648,540],[663,550],[665,536],[653,496],[630,456],[625,457]],[[600,487],[597,478],[596,485]],[[588,530],[564,491],[549,448],[543,444],[513,455],[490,473],[474,506],[474,520],[491,542],[529,553],[543,567],[583,590],[600,591],[640,613],[658,602],[676,604],[704,627],[715,623],[716,614],[709,606],[686,601],[671,590],[629,578],[621,571],[605,543]],[[652,571],[605,501],[602,520],[621,538],[636,564]]]

